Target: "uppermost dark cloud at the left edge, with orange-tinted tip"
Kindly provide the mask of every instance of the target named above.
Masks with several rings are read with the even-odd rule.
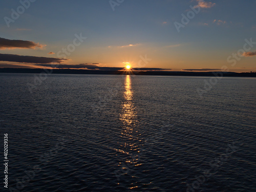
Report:
[[[44,45],[28,40],[11,40],[0,37],[0,49],[36,49],[44,48]]]

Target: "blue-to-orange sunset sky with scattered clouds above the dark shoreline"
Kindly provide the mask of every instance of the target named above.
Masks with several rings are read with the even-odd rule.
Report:
[[[2,0],[0,68],[256,71],[255,7],[255,0]]]

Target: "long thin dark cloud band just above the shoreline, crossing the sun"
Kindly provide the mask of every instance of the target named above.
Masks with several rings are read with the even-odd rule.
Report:
[[[125,68],[117,68],[117,67],[99,67],[98,66],[99,63],[82,63],[79,65],[58,65],[55,66],[55,68],[57,69],[83,69],[83,68],[87,68],[87,69],[91,69],[91,70],[108,70],[108,71],[118,71],[118,70],[124,70]],[[52,67],[49,64],[37,64],[37,66],[44,66],[44,67]],[[164,70],[161,68],[132,68],[132,70],[137,70],[137,71],[160,71],[160,70]]]

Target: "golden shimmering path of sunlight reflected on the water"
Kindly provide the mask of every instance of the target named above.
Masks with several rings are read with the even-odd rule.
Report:
[[[137,112],[136,107],[134,106],[133,101],[133,90],[131,76],[126,75],[124,79],[124,90],[123,90],[123,102],[121,105],[121,113],[119,118],[122,123],[121,137],[123,142],[120,145],[122,148],[122,153],[126,155],[125,162],[120,162],[120,168],[123,169],[124,175],[128,174],[131,177],[133,176],[132,169],[136,166],[141,165],[139,163],[139,153],[140,153],[140,142],[139,132],[137,130]],[[136,183],[131,183],[130,189],[137,188]]]

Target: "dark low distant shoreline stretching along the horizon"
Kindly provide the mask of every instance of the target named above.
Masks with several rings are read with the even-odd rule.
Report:
[[[47,72],[48,71],[48,72]],[[49,73],[50,69],[0,68],[0,73]],[[53,69],[51,74],[97,74],[97,75],[164,75],[164,76],[224,76],[224,77],[256,77],[256,73],[236,72],[183,72],[183,71],[107,71],[107,70],[79,70]]]

